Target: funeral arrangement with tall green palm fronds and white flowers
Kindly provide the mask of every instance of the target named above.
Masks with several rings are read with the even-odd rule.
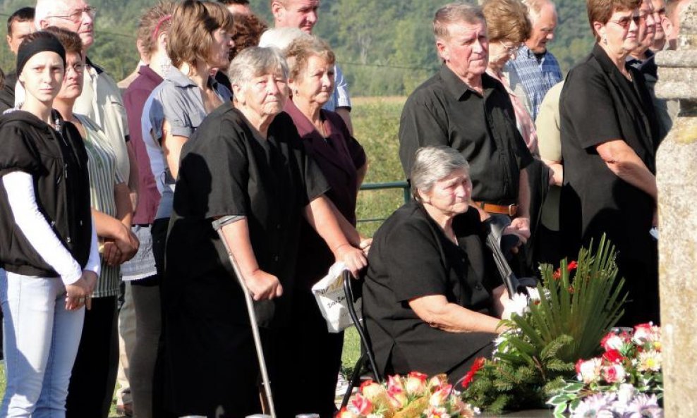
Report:
[[[541,283],[517,306],[492,359],[475,364],[460,389],[487,412],[545,407],[574,377],[574,364],[598,352],[598,341],[622,316],[626,294],[617,278],[614,248],[603,237],[558,269],[540,266]]]

